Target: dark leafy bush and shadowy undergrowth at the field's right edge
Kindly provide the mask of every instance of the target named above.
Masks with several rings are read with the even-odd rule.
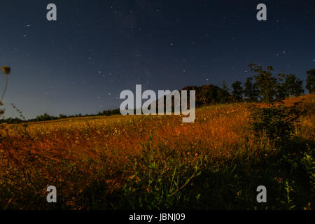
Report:
[[[274,145],[278,149],[274,157],[274,165],[279,170],[275,177],[282,209],[304,207],[300,197],[314,197],[315,160],[314,149],[297,138],[299,125],[297,120],[304,114],[300,102],[294,106],[271,106],[268,108],[251,108],[251,125],[255,137],[267,137],[265,145]],[[314,141],[310,144],[314,147]],[[274,175],[274,174],[272,174]],[[284,178],[285,177],[285,178]],[[312,201],[312,200],[310,200]],[[308,203],[310,207],[311,202]]]

